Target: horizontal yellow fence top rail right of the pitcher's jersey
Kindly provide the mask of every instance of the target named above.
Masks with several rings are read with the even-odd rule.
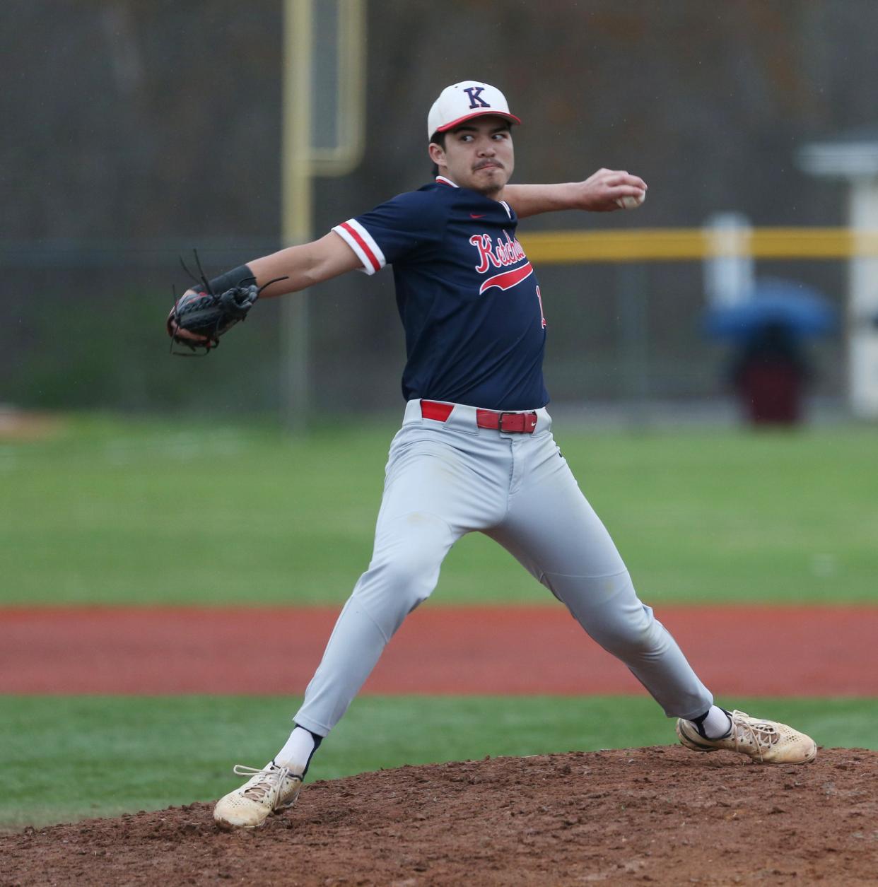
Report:
[[[725,235],[725,236],[724,236]],[[851,228],[636,228],[628,231],[547,231],[521,235],[533,262],[685,262],[711,256],[756,259],[878,257],[878,231]]]

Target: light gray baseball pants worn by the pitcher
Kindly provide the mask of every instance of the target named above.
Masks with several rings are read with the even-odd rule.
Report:
[[[369,569],[341,610],[295,723],[325,736],[348,710],[405,616],[427,600],[451,546],[495,539],[625,663],[668,717],[697,718],[713,697],[637,597],[628,570],[537,410],[533,434],[478,428],[474,407],[448,420],[406,405],[390,445]]]

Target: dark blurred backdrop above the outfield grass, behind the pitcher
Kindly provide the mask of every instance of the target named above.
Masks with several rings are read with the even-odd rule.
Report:
[[[172,283],[186,284],[178,255],[199,247],[217,272],[279,245],[281,13],[278,0],[0,4],[0,403],[277,404],[276,302],[202,361],[167,357],[162,324]],[[521,233],[691,227],[731,209],[757,225],[843,224],[843,186],[804,176],[794,153],[875,122],[868,0],[371,0],[368,23],[365,158],[317,180],[315,233],[425,181],[427,108],[469,77],[498,85],[524,121],[516,181],[608,166],[650,186],[636,216],[543,217]],[[843,299],[842,263],[758,270]],[[698,264],[633,277],[547,266],[540,278],[556,400],[720,389],[723,352],[698,334]],[[389,272],[310,299],[319,408],[396,407]],[[640,381],[625,350],[632,317],[647,325]],[[841,341],[815,359],[820,390],[840,394]]]

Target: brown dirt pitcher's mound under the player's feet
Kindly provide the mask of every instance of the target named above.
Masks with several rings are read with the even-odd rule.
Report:
[[[0,838],[4,884],[874,883],[878,753],[759,766],[677,747],[316,782],[256,832],[209,805]]]

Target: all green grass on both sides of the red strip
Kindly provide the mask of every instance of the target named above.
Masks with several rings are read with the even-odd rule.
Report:
[[[0,605],[340,604],[369,560],[392,425],[291,439],[268,424],[78,417],[0,443]],[[869,602],[878,429],[556,429],[649,602]],[[435,602],[543,601],[472,536]],[[286,738],[294,699],[0,696],[0,828],[208,800]],[[828,746],[878,748],[876,700],[733,704]],[[647,698],[358,699],[313,777],[674,742]]]

